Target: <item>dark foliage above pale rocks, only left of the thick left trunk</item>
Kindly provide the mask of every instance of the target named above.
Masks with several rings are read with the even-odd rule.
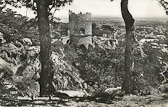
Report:
[[[37,21],[35,19],[28,20],[27,17],[8,8],[0,12],[0,17],[0,31],[7,42],[20,40],[21,38],[38,40]]]

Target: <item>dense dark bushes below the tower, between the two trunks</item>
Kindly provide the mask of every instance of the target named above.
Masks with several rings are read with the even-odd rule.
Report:
[[[95,89],[121,86],[123,76],[123,50],[95,47],[83,53],[78,48],[78,58],[73,63],[81,78]]]

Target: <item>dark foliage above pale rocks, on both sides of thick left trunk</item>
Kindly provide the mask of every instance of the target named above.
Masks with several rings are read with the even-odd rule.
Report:
[[[33,45],[39,42],[37,19],[28,19],[17,14],[11,9],[0,12],[0,31],[7,42],[20,41],[22,38],[31,38]],[[67,24],[57,22],[58,19],[50,19],[51,37],[59,39],[62,35],[67,35]]]

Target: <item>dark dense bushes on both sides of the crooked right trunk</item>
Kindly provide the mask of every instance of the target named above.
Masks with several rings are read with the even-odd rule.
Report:
[[[155,37],[155,35],[154,35]],[[88,90],[102,92],[106,88],[121,86],[124,77],[124,37],[120,36],[119,46],[115,50],[99,47],[85,50],[78,48],[73,65],[81,74],[81,78],[88,84]],[[134,69],[131,73],[133,94],[147,95],[158,92],[163,83],[161,75],[166,70],[167,53],[162,50],[166,40],[162,37],[149,41],[140,35],[138,41],[146,41],[142,45],[134,46]]]

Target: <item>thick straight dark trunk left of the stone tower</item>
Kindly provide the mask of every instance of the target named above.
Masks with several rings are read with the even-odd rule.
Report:
[[[53,91],[52,79],[53,72],[51,70],[51,37],[49,30],[48,7],[47,0],[37,1],[37,16],[40,38],[40,96],[50,95]]]

